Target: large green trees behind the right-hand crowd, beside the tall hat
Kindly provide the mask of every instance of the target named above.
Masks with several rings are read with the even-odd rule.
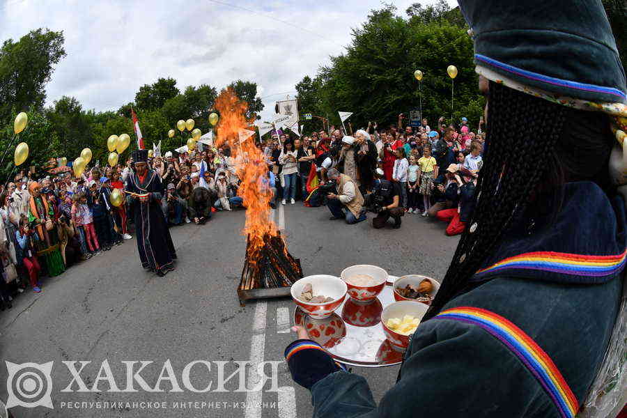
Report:
[[[446,69],[453,64],[458,68],[453,120],[467,116],[476,124],[483,98],[477,92],[472,40],[456,14],[459,11],[450,10],[444,1],[426,8],[416,3],[408,9],[408,18],[396,15],[394,6],[373,10],[368,21],[353,30],[345,54],[332,57],[331,65],[320,68],[314,79],[307,76],[297,84],[301,111],[330,115],[336,124],[337,111],[354,112],[350,120],[357,126],[395,123],[399,113],[419,107],[413,74],[421,70],[424,115],[432,123],[440,116],[451,121]]]

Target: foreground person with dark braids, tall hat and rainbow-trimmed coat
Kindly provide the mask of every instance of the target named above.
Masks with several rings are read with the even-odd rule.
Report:
[[[378,405],[301,327],[285,350],[292,377],[320,418],[615,417],[627,396],[627,88],[603,5],[459,3],[488,135],[440,291]]]

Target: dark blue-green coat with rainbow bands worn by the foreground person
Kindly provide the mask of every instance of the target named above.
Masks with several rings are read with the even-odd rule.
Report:
[[[624,201],[594,183],[571,183],[557,217],[522,220],[466,291],[419,325],[378,405],[366,380],[321,348],[295,350],[313,341],[288,346],[314,417],[573,416],[619,311]]]

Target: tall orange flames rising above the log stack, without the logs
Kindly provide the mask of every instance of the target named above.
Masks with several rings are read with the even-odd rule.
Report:
[[[270,219],[270,199],[272,191],[263,187],[263,178],[268,177],[268,164],[262,150],[255,144],[255,136],[240,142],[240,132],[253,125],[254,118],[246,118],[247,102],[240,100],[232,88],[224,89],[215,100],[215,108],[220,113],[217,125],[218,148],[225,142],[231,148],[235,159],[235,172],[240,178],[238,196],[244,199],[246,223],[242,234],[247,235],[249,247],[247,256],[260,250],[268,237],[279,235],[277,225]]]

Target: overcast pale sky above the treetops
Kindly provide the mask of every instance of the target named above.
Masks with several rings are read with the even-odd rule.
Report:
[[[410,4],[389,1],[405,13]],[[448,0],[456,6],[455,0]],[[218,89],[234,79],[258,84],[269,116],[350,42],[380,0],[0,0],[0,40],[39,27],[65,35],[68,56],[47,86],[47,102],[75,96],[84,109],[118,109],[140,86],[173,77]]]

